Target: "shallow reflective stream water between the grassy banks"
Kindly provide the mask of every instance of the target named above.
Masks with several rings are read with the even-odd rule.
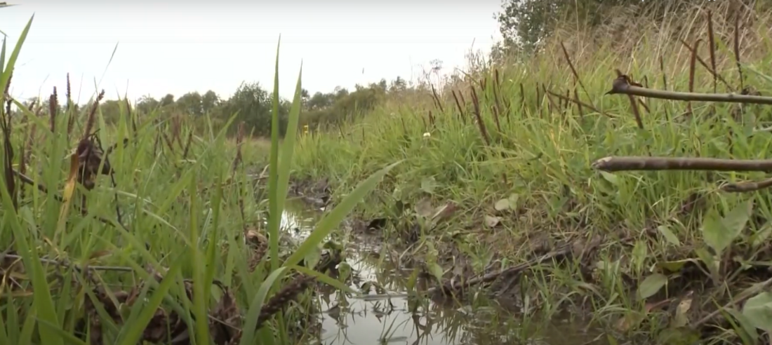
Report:
[[[318,215],[313,211],[288,211],[283,215],[283,228],[296,241],[303,241]],[[411,294],[408,285],[415,269],[395,263],[391,255],[384,254],[382,243],[363,240],[340,239],[344,253],[329,273],[364,295],[354,296],[319,284],[316,298],[320,309],[312,317],[316,325],[312,343],[606,343],[601,341],[599,330],[570,315],[537,323],[485,298],[458,303]],[[426,279],[419,278],[415,283],[419,290],[427,289]]]

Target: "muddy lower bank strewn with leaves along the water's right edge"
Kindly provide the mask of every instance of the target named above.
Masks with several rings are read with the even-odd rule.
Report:
[[[293,193],[317,208],[334,205],[332,189],[327,181],[293,184]],[[549,222],[533,205],[504,204],[371,204],[385,211],[360,211],[347,227],[357,242],[377,247],[375,255],[422,281],[418,290],[435,303],[485,296],[507,313],[592,315],[595,326],[628,340],[643,327],[657,330],[638,333],[646,341],[721,336],[737,324],[727,315],[742,318],[747,299],[772,285],[772,272],[760,264],[772,261],[763,238],[729,241],[723,255],[713,256],[705,244],[672,235],[672,223],[598,229],[571,218]],[[671,222],[701,233],[703,222],[695,220],[703,210],[692,204]],[[505,232],[502,224],[530,228]]]

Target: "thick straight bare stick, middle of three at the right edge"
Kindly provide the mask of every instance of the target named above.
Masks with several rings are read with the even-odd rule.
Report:
[[[772,160],[732,160],[692,157],[604,157],[592,163],[601,171],[772,171]]]

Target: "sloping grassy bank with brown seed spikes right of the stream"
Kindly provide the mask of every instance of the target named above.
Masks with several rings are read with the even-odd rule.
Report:
[[[722,184],[769,168],[592,167],[607,156],[767,158],[769,106],[635,97],[632,107],[607,94],[618,69],[655,90],[770,95],[772,16],[730,4],[659,23],[620,13],[592,32],[569,21],[537,56],[476,66],[422,102],[301,137],[293,167],[329,179],[337,200],[405,160],[357,217],[386,218],[374,231],[428,275],[529,263],[514,289],[525,317],[570,310],[649,340],[768,343],[772,204],[764,189]]]

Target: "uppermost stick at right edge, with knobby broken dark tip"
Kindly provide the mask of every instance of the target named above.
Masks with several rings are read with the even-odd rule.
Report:
[[[648,98],[659,98],[661,100],[685,100],[702,102],[730,102],[730,103],[748,103],[748,104],[769,104],[772,105],[772,97],[742,95],[736,93],[684,93],[677,91],[652,90],[643,86],[631,85],[627,76],[619,76],[611,84],[611,91],[607,95],[625,94],[632,96],[642,96]]]

